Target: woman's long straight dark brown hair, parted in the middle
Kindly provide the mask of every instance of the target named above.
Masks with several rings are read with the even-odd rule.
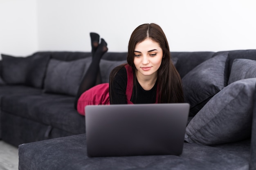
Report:
[[[184,102],[180,75],[171,61],[170,49],[164,31],[157,24],[142,24],[132,32],[128,44],[127,62],[132,67],[134,79],[136,79],[136,67],[134,65],[135,46],[146,38],[157,42],[163,51],[162,63],[157,71],[157,83],[159,87],[158,103]],[[119,66],[110,73],[110,84],[112,84],[117,71],[121,67]]]

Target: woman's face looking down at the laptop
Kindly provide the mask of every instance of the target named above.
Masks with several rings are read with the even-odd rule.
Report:
[[[163,57],[163,51],[157,42],[147,38],[136,44],[134,56],[137,76],[157,76]]]

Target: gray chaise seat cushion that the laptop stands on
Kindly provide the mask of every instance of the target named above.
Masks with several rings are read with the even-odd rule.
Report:
[[[19,170],[246,170],[249,155],[250,141],[242,141],[214,147],[184,143],[180,156],[89,158],[81,134],[20,145]]]

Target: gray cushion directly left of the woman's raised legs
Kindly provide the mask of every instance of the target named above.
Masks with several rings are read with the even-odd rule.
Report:
[[[92,58],[73,61],[51,59],[45,77],[44,92],[75,96]]]

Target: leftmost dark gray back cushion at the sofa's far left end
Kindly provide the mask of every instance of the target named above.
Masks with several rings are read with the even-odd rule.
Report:
[[[7,84],[22,84],[42,88],[50,56],[33,54],[13,57],[2,54],[2,78]]]

